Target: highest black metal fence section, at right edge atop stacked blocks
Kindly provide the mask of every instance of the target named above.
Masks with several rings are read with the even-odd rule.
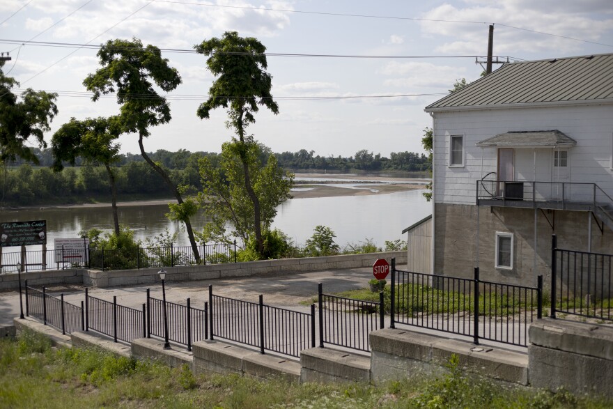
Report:
[[[552,236],[551,314],[613,321],[612,254],[557,248]]]

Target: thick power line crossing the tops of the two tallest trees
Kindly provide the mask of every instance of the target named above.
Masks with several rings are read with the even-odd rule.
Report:
[[[50,41],[23,41],[23,40],[10,40],[6,38],[0,38],[0,43],[13,44],[22,43],[38,47],[63,47],[63,48],[78,48],[78,49],[100,49],[100,45],[93,44],[77,44],[77,43],[56,43]],[[122,50],[127,47],[107,47],[108,49]],[[160,48],[162,52],[178,53],[178,54],[198,54],[194,49],[178,49],[178,48]],[[216,52],[216,54],[223,55],[254,55],[250,52]],[[312,58],[345,58],[345,59],[475,59],[484,58],[483,56],[474,55],[356,55],[356,54],[300,54],[300,53],[283,53],[283,52],[265,52],[262,53],[265,56],[287,56],[287,57],[312,57]],[[258,54],[259,55],[259,54]],[[521,61],[516,57],[511,56],[497,56],[499,59],[511,59],[514,61]]]

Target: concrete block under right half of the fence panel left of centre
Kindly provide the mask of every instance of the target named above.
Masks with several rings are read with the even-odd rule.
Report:
[[[288,382],[300,382],[300,363],[274,355],[251,353],[242,359],[242,371],[256,378],[280,378]]]

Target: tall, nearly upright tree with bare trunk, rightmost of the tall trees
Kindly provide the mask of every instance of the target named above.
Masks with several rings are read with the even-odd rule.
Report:
[[[279,113],[279,106],[270,94],[272,77],[265,71],[266,47],[256,38],[242,38],[236,31],[226,31],[223,38],[205,40],[194,49],[208,56],[206,66],[213,75],[218,76],[210,87],[210,97],[200,105],[196,114],[204,119],[209,118],[212,109],[228,109],[226,126],[238,134],[236,149],[242,162],[245,190],[254,207],[258,253],[263,255],[260,199],[254,191],[249,173],[249,144],[253,137],[245,134],[245,128],[256,121],[254,114],[259,110],[258,105],[267,107],[273,114]]]

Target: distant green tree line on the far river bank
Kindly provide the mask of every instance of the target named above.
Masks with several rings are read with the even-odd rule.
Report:
[[[51,149],[33,148],[40,165],[25,160],[6,161],[0,169],[0,206],[38,206],[51,203],[83,203],[106,201],[110,197],[109,178],[104,166],[86,164],[81,158],[75,167],[67,164],[63,172],[50,169]],[[261,162],[272,153],[261,146]],[[279,166],[288,170],[318,171],[427,171],[428,157],[412,152],[392,152],[390,157],[374,155],[367,150],[352,157],[323,157],[301,149],[295,153],[275,153]],[[139,154],[119,154],[114,164],[119,200],[167,197],[168,189],[160,176]],[[173,183],[186,187],[188,194],[203,190],[198,161],[207,157],[212,167],[218,167],[221,155],[212,152],[189,152],[180,149],[170,152],[160,149],[150,157],[166,169]]]

